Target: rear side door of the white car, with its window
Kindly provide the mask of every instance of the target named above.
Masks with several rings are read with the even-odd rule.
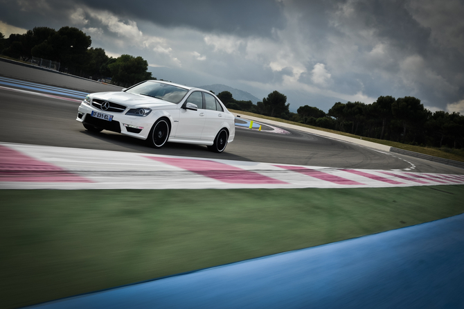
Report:
[[[203,93],[206,121],[204,123],[202,139],[213,141],[217,132],[224,124],[224,110],[216,98],[211,94]]]

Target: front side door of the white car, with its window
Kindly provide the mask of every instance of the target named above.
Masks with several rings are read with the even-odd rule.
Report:
[[[197,105],[196,111],[181,108],[179,123],[177,124],[176,137],[180,139],[201,139],[206,119],[203,109],[202,91],[194,91],[188,96],[186,103]]]

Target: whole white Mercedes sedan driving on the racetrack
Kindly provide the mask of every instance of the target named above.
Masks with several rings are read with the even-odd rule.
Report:
[[[234,118],[210,91],[146,80],[121,92],[89,94],[76,120],[91,132],[118,132],[154,148],[170,141],[223,152],[235,136]]]

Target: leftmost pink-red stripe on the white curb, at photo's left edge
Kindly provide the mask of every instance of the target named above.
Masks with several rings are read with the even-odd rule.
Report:
[[[92,182],[4,145],[0,145],[0,158],[0,182]]]

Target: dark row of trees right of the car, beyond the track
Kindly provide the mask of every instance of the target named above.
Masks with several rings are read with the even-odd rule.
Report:
[[[418,98],[380,96],[372,104],[337,102],[323,110],[304,105],[289,112],[287,96],[273,91],[254,105],[234,100],[229,91],[217,95],[230,109],[347,132],[358,136],[437,148],[464,148],[464,115],[430,112]]]

